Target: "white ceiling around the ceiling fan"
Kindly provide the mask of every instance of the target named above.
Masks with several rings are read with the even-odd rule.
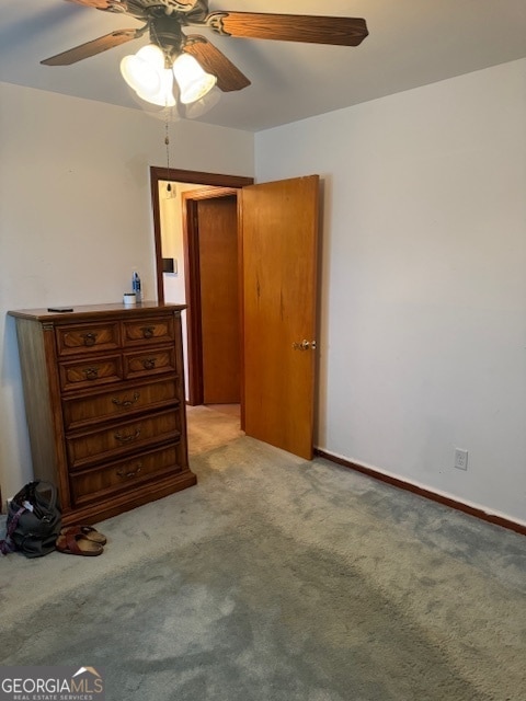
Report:
[[[118,65],[147,36],[72,66],[39,65],[139,22],[64,0],[2,0],[1,5],[0,81],[145,108],[132,96]],[[209,9],[367,21],[369,36],[354,48],[229,38],[197,30],[252,84],[220,93],[217,104],[193,118],[249,131],[526,56],[526,0],[209,0]]]

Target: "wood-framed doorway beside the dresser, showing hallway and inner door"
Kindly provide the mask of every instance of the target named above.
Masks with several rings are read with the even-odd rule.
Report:
[[[168,180],[169,179],[169,180]],[[170,189],[167,191],[168,183]],[[183,312],[186,401],[240,412],[237,194],[252,179],[150,168],[160,303]],[[179,257],[167,243],[164,198],[179,216]],[[170,222],[168,225],[171,227]]]

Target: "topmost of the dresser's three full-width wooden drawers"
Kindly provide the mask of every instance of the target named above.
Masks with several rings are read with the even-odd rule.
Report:
[[[67,430],[123,415],[179,404],[179,379],[163,378],[148,383],[123,382],[111,391],[62,399]]]

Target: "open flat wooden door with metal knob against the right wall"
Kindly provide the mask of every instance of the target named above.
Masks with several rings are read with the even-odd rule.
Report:
[[[313,444],[319,176],[243,187],[247,435],[310,460]]]

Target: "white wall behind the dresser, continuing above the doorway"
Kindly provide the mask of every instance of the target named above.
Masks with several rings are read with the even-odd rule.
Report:
[[[170,127],[175,169],[252,176],[253,135]],[[32,478],[9,309],[122,300],[134,266],[155,299],[149,166],[164,124],[134,110],[0,83],[0,486]]]

